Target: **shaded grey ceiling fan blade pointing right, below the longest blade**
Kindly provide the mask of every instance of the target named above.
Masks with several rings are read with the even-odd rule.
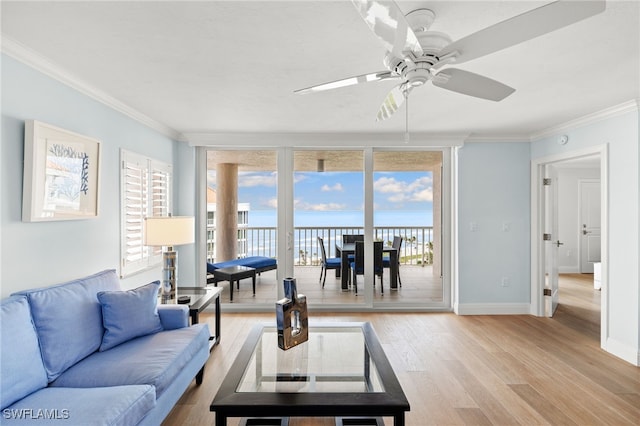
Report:
[[[516,91],[512,87],[488,77],[455,68],[447,68],[444,71],[440,71],[433,77],[431,82],[434,86],[442,87],[443,89],[496,102],[503,100]]]

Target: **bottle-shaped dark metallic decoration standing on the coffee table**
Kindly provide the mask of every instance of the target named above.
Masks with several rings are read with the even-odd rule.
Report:
[[[307,297],[298,294],[295,278],[284,279],[285,297],[276,302],[278,347],[291,349],[309,340]]]

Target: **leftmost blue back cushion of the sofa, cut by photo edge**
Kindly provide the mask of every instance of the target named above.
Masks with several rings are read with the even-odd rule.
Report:
[[[0,325],[0,408],[4,409],[47,386],[47,372],[26,297],[1,302]]]

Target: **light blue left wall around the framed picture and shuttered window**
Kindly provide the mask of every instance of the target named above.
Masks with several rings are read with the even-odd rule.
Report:
[[[98,218],[22,222],[24,121],[28,119],[102,141]],[[119,273],[120,149],[173,163],[177,144],[104,104],[3,55],[1,296],[107,268],[115,268]],[[180,213],[179,209],[177,213]],[[131,288],[159,277],[160,269],[152,270],[123,280],[123,286]]]

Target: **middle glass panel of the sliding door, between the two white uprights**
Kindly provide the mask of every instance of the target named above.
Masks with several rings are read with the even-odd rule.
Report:
[[[294,271],[298,290],[311,306],[365,303],[349,265],[324,271],[325,258],[336,258],[343,235],[364,235],[363,152],[295,150],[293,152]],[[342,266],[342,265],[341,265]]]

